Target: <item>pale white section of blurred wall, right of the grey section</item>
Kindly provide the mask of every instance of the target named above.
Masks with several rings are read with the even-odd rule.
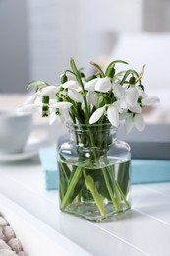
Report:
[[[142,30],[142,0],[28,0],[30,77],[50,83],[69,67],[106,54],[113,32]]]

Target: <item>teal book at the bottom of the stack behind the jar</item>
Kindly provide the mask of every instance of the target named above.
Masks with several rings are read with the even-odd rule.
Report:
[[[58,189],[58,169],[56,150],[46,147],[39,150],[44,172],[45,188]],[[131,160],[132,184],[168,182],[170,181],[170,160]]]

